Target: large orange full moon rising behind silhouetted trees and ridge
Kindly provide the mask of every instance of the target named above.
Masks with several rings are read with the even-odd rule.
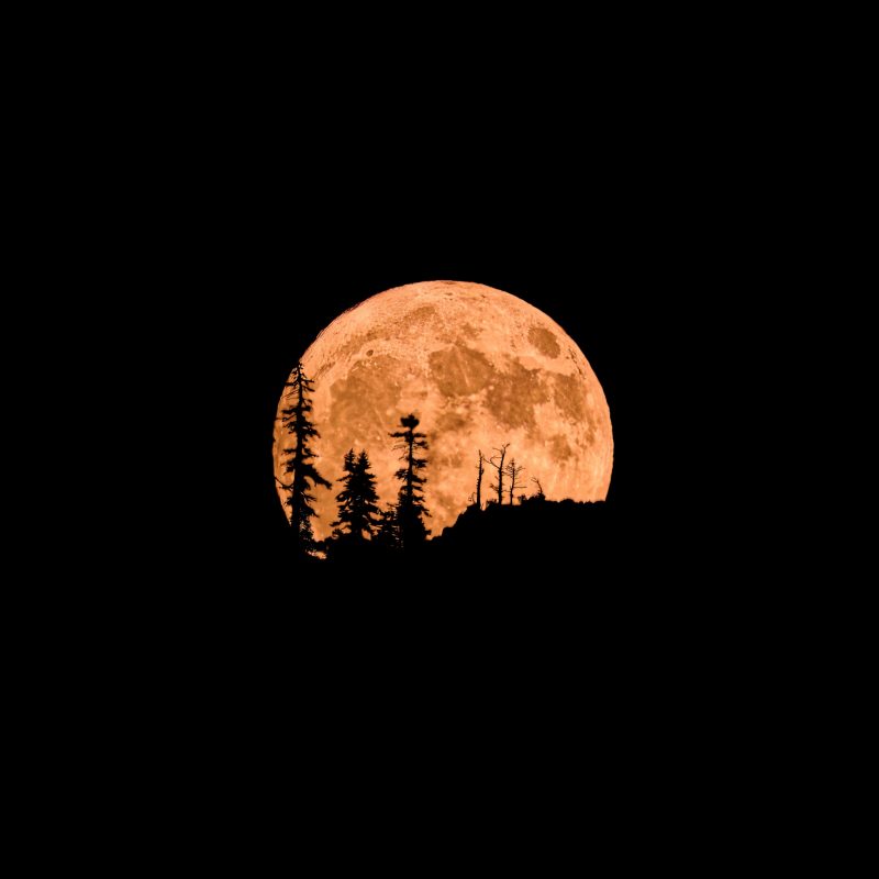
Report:
[[[333,482],[315,488],[314,536],[329,537],[336,519],[345,453],[366,449],[381,505],[397,501],[400,453],[389,434],[413,412],[430,449],[424,498],[432,536],[455,523],[476,490],[479,449],[486,457],[510,444],[507,463],[539,479],[549,500],[604,500],[613,468],[608,401],[577,343],[518,297],[461,281],[429,281],[386,290],[330,324],[302,356],[314,382],[312,413],[320,438],[314,464]],[[275,475],[283,472],[293,436],[278,404]],[[482,501],[492,497],[486,467]],[[280,489],[281,500],[287,494]],[[504,498],[504,503],[508,499]],[[287,510],[288,508],[285,508]],[[289,513],[288,513],[289,515]]]

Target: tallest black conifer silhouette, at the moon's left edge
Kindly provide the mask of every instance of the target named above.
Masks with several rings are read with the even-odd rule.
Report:
[[[285,503],[290,508],[293,552],[297,555],[304,555],[314,548],[311,520],[318,515],[311,505],[314,496],[310,493],[310,489],[313,486],[332,488],[332,485],[312,464],[315,456],[309,442],[320,437],[316,427],[311,423],[312,403],[309,397],[314,392],[314,382],[305,376],[301,363],[296,365],[290,374],[290,380],[283,387],[290,389],[285,396],[292,396],[293,401],[289,408],[281,410],[281,423],[296,437],[293,447],[283,450],[289,458],[283,471],[292,474],[293,478],[290,485],[285,485],[280,479],[277,481],[290,494]]]

